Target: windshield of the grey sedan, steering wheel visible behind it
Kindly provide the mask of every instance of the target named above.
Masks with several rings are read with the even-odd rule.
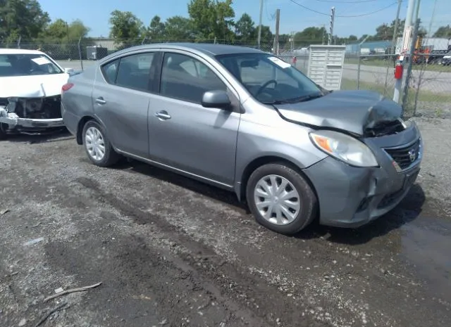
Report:
[[[295,103],[323,95],[311,79],[271,54],[234,53],[216,59],[262,103]]]

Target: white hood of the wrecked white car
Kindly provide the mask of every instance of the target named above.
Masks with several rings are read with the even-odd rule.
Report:
[[[68,82],[67,73],[52,75],[0,77],[0,98],[40,98],[61,94]]]

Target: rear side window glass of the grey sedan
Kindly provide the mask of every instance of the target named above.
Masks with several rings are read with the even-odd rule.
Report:
[[[103,66],[106,82],[128,89],[149,91],[152,82],[154,53],[138,53],[126,56]],[[152,70],[152,72],[151,72]]]

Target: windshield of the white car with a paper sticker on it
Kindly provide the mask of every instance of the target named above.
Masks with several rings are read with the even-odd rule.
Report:
[[[51,75],[63,71],[42,54],[0,54],[0,77]]]

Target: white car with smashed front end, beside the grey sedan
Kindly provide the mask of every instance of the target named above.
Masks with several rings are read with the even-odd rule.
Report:
[[[0,139],[63,127],[61,87],[70,72],[41,51],[0,49]]]

